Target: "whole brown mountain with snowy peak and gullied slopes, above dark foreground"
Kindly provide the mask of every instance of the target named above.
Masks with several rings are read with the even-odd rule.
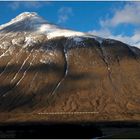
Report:
[[[0,26],[0,122],[140,120],[140,50],[23,13]]]

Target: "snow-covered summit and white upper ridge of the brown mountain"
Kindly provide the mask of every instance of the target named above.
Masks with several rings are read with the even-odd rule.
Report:
[[[42,17],[38,16],[37,13],[25,12],[12,19],[9,23],[1,25],[1,32],[7,32],[12,29],[14,31],[26,31],[26,32],[34,32],[36,34],[44,34],[47,35],[48,39],[56,38],[56,37],[78,37],[74,39],[75,41],[81,38],[96,38],[96,36],[90,35],[88,33],[72,31],[64,28],[60,28],[56,25],[50,24]],[[96,38],[102,40],[101,38]]]

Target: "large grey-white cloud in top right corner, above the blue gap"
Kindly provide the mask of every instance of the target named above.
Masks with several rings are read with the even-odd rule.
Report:
[[[101,26],[117,26],[119,24],[140,24],[140,3],[129,2],[122,9],[116,10],[113,17],[101,20]]]

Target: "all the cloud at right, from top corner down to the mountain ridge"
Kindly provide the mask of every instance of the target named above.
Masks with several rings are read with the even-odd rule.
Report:
[[[115,10],[113,17],[100,21],[99,30],[91,30],[89,33],[103,38],[111,38],[120,40],[132,46],[140,48],[140,3],[129,2],[122,9]],[[135,31],[131,36],[125,34],[114,35],[112,33],[116,26],[120,24],[132,24],[135,26]]]

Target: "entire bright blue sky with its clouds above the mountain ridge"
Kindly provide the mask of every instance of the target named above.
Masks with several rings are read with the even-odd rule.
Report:
[[[140,46],[140,2],[0,2],[0,24],[22,12],[49,22]]]

